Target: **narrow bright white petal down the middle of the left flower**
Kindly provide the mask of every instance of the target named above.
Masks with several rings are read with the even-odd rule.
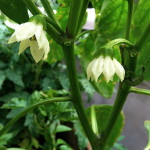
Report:
[[[43,48],[44,47],[44,43],[43,43],[43,26],[41,24],[37,25],[36,31],[35,31],[35,37],[36,40],[38,42],[39,48]]]

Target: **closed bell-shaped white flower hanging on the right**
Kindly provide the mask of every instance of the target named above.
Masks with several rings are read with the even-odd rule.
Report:
[[[113,80],[113,76],[116,73],[120,80],[124,80],[125,70],[123,66],[115,59],[109,56],[100,56],[90,62],[87,67],[87,78],[88,80],[98,80],[98,77],[103,73],[106,81]]]

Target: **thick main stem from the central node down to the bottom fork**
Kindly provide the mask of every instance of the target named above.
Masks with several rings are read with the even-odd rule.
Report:
[[[71,44],[70,46],[63,46],[62,48],[64,51],[65,61],[66,61],[66,65],[68,68],[68,75],[69,75],[71,93],[72,93],[72,102],[78,113],[81,124],[92,145],[93,150],[99,150],[98,138],[94,134],[87,120],[87,116],[85,114],[84,107],[82,104],[82,98],[80,94],[80,88],[79,88],[79,83],[77,79],[77,72],[76,72],[76,65],[75,65],[74,46],[73,44]]]

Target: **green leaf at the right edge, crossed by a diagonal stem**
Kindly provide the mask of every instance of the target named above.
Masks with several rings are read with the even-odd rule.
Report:
[[[144,10],[144,11],[143,11]],[[132,30],[131,30],[131,40],[136,41],[139,38],[139,35],[142,34],[144,28],[150,20],[150,1],[142,0],[140,1],[132,21]],[[149,33],[147,33],[149,34]],[[142,74],[142,67],[145,68],[144,71],[144,80],[150,80],[150,56],[149,56],[149,47],[150,47],[150,37],[146,40],[144,46],[142,47],[140,53],[138,54],[136,76],[140,77]]]

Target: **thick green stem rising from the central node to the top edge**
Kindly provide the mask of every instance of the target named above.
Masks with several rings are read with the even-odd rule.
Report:
[[[70,6],[70,13],[67,25],[67,34],[70,38],[75,38],[78,28],[78,21],[81,12],[81,0],[72,0]]]

